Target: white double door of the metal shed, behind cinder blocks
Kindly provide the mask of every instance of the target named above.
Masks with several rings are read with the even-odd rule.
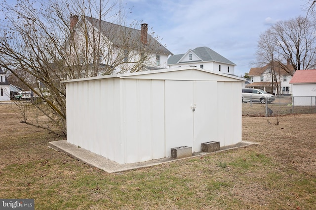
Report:
[[[201,150],[217,139],[217,82],[165,81],[165,156],[180,146]],[[195,107],[195,111],[193,111]]]

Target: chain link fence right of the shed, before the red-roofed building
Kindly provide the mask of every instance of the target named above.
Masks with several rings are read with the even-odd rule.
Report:
[[[263,101],[262,101],[263,102]],[[288,114],[316,113],[316,96],[275,96],[275,101],[261,103],[250,99],[242,103],[242,116],[273,117]]]

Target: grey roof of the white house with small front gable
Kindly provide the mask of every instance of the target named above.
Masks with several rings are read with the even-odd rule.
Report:
[[[217,61],[222,63],[228,63],[232,65],[236,65],[232,61],[226,59],[225,57],[221,56],[220,54],[216,53],[214,50],[208,47],[197,47],[194,50],[189,50],[194,53],[198,58],[201,60],[192,60],[187,62],[197,62],[197,61]],[[168,64],[176,64],[181,63],[181,59],[185,54],[178,54],[170,56],[168,59]]]

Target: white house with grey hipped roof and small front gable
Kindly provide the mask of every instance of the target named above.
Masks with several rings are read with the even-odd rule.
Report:
[[[197,47],[188,50],[185,54],[170,56],[168,66],[170,68],[193,66],[234,75],[236,64],[208,47]]]

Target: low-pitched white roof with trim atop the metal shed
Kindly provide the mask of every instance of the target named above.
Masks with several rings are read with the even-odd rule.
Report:
[[[124,78],[124,79],[152,79],[152,80],[200,80],[200,81],[245,81],[244,78],[235,75],[228,75],[208,71],[197,67],[179,67],[167,68],[153,71],[142,71],[135,73],[113,74],[98,77],[80,78],[74,80],[63,81],[63,83],[80,82],[89,80],[101,80],[107,78]]]

